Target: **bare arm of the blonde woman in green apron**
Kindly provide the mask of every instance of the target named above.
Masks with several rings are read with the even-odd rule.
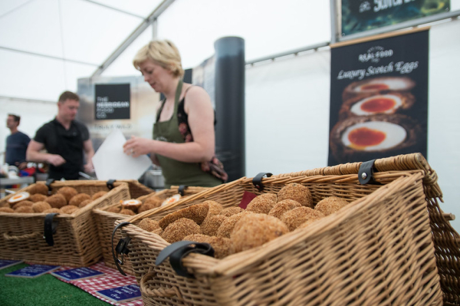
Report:
[[[208,93],[199,86],[187,91],[185,112],[193,141],[174,144],[166,141],[132,137],[123,150],[134,157],[147,153],[167,156],[181,162],[206,162],[215,154],[214,110]]]

